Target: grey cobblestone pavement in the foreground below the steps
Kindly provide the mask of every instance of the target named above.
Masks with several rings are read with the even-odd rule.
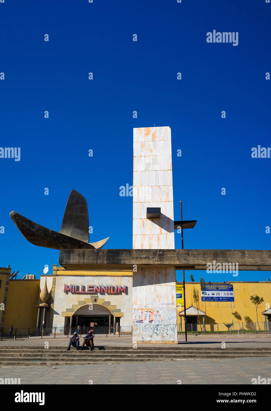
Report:
[[[150,363],[1,367],[0,378],[21,384],[251,384],[271,378],[270,358],[234,358]],[[180,382],[181,381],[181,382]]]

